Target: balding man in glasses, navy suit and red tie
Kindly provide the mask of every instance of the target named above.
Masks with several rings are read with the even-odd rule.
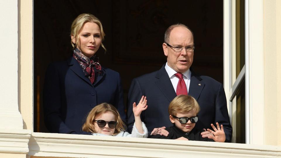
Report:
[[[200,105],[200,118],[195,129],[210,128],[216,122],[223,125],[226,142],[232,138],[227,102],[223,85],[208,76],[196,75],[190,68],[194,55],[194,40],[192,31],[183,24],[170,26],[162,44],[167,63],[153,73],[133,79],[129,93],[128,105],[137,102],[144,95],[148,100],[148,109],[143,111],[141,119],[152,134],[162,132],[168,134],[165,127],[170,127],[168,106],[177,95],[190,95]],[[128,106],[128,130],[134,123],[131,106]],[[155,128],[163,127],[163,128]],[[201,133],[208,137],[208,131]]]

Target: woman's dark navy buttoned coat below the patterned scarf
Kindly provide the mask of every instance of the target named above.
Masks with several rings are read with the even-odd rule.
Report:
[[[115,106],[125,120],[120,75],[109,68],[102,71],[104,74],[97,76],[92,85],[73,57],[49,65],[43,103],[45,124],[51,133],[84,133],[81,127],[88,112],[103,102]]]

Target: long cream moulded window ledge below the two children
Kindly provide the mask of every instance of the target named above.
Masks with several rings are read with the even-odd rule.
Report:
[[[30,156],[52,157],[274,157],[280,146],[32,133]]]

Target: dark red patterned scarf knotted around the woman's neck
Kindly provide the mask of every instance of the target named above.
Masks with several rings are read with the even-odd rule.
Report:
[[[103,74],[102,66],[100,66],[99,58],[97,56],[94,55],[91,59],[89,59],[87,56],[82,54],[78,48],[75,48],[73,50],[73,57],[78,61],[85,73],[85,77],[88,77],[92,84],[95,82],[95,76],[97,74]]]

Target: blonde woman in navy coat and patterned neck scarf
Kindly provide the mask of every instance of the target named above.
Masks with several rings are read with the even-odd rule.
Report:
[[[101,66],[96,52],[106,50],[104,31],[98,18],[80,14],[71,25],[73,55],[49,65],[44,83],[44,117],[51,133],[90,134],[83,121],[96,105],[107,102],[125,120],[123,90],[118,72]]]

